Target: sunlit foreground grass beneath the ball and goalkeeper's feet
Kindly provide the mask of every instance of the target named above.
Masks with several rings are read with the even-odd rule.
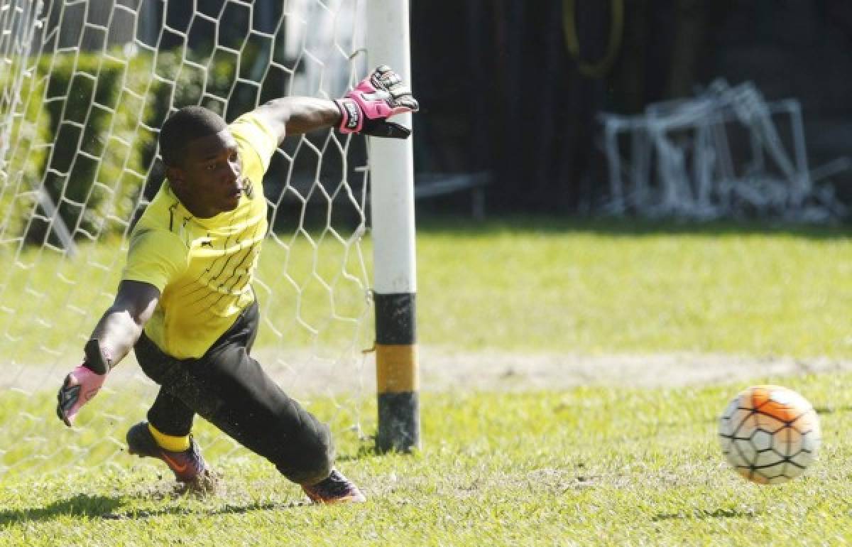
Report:
[[[202,428],[224,493],[170,495],[163,468],[124,453],[97,470],[4,477],[0,544],[840,544],[852,541],[850,382],[791,383],[820,408],[824,444],[806,475],[780,487],[722,462],[716,417],[739,387],[458,391],[424,394],[424,448],[412,456],[340,437],[339,464],[366,505],[296,505],[300,492],[271,465],[209,446]],[[95,422],[95,436],[114,434]]]

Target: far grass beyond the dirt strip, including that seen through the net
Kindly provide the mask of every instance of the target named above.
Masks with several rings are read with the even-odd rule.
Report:
[[[421,224],[417,320],[425,345],[852,358],[842,320],[852,302],[848,228],[523,218]],[[362,254],[371,262],[369,239]],[[73,261],[24,253],[0,273],[0,332],[20,338],[0,339],[0,353],[31,363],[78,350],[123,265],[116,244],[83,247]],[[336,277],[344,269],[351,277]],[[278,297],[264,314],[281,336],[266,327],[258,346],[369,345],[370,333],[352,320],[366,316],[371,325],[366,282],[357,281],[370,273],[354,250],[329,237],[312,245],[302,236],[289,250],[268,242],[259,275]],[[269,302],[265,287],[258,292]]]

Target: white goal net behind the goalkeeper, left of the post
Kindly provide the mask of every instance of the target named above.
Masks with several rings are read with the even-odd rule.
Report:
[[[158,128],[191,104],[230,122],[279,96],[343,95],[366,74],[366,0],[0,6],[0,475],[127,466],[124,433],[156,394],[133,355],[75,430],[55,417],[55,393],[163,180]],[[348,446],[371,404],[366,154],[362,137],[334,130],[285,140],[264,180],[271,229],[255,284],[253,354]],[[196,435],[214,464],[243,451],[203,420]]]

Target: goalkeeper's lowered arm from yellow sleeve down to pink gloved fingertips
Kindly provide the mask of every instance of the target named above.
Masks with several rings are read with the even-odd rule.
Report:
[[[68,427],[80,408],[101,389],[107,373],[130,352],[157,307],[160,291],[140,281],[122,281],[118,294],[95,325],[83,363],[68,373],[57,394],[56,415]]]

